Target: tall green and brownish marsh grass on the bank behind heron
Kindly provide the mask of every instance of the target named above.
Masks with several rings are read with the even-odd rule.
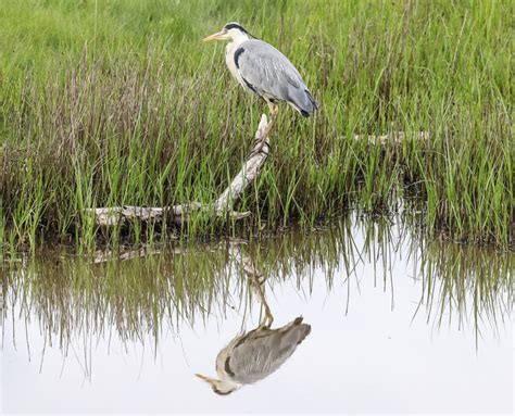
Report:
[[[4,0],[0,242],[92,247],[87,207],[213,201],[264,111],[230,79],[223,47],[201,42],[239,21],[322,104],[310,119],[281,109],[239,206],[253,214],[246,229],[384,214],[415,197],[428,234],[513,245],[511,12],[510,1]],[[403,143],[353,139],[399,130]],[[221,227],[198,218],[183,231]],[[171,232],[136,225],[106,239]]]

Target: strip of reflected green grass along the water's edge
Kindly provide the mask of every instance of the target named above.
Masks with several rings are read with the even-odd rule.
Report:
[[[156,346],[164,332],[177,333],[179,324],[223,319],[228,307],[243,315],[249,310],[255,293],[244,264],[231,255],[231,243],[91,256],[46,252],[10,260],[3,263],[2,320],[37,319],[46,343],[59,344],[65,354],[74,339],[95,342],[113,332],[126,342],[148,342],[150,335]],[[288,230],[243,242],[240,250],[272,290],[290,280],[309,298],[314,273],[322,270],[327,290],[347,285],[348,299],[350,279],[374,278],[377,287],[391,292],[392,307],[398,277],[391,270],[394,262],[405,262],[420,283],[415,315],[426,314],[438,327],[474,326],[477,337],[513,310],[513,253],[419,240],[386,219],[353,218],[311,232]],[[356,274],[363,264],[374,265],[374,276]]]

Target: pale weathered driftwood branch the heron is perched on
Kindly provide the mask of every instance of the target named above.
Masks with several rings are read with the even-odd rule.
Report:
[[[261,116],[258,131],[255,133],[254,146],[243,163],[241,171],[236,175],[230,185],[222,192],[212,204],[200,204],[190,202],[174,206],[143,207],[143,206],[111,206],[88,209],[87,212],[95,215],[97,225],[112,227],[117,224],[131,223],[134,220],[160,223],[164,217],[171,218],[174,223],[185,223],[194,211],[213,213],[216,217],[228,216],[231,219],[242,219],[250,215],[250,212],[233,211],[243,190],[259,176],[261,167],[268,157],[268,119],[266,115]]]

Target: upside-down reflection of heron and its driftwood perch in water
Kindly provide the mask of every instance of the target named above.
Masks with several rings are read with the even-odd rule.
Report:
[[[311,332],[311,326],[304,324],[302,317],[272,329],[274,317],[266,302],[263,274],[255,267],[252,259],[242,253],[240,244],[231,244],[229,250],[241,264],[265,314],[258,328],[237,336],[218,353],[218,379],[196,375],[211,385],[217,394],[230,394],[244,385],[252,385],[269,376],[293,354]]]

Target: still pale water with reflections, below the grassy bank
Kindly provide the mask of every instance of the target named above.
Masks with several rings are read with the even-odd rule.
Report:
[[[359,218],[10,260],[1,411],[512,414],[514,263]]]

